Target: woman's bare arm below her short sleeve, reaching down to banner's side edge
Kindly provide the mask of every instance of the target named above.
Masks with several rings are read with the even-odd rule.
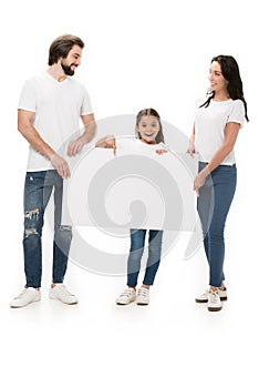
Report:
[[[219,164],[227,157],[227,155],[234,150],[234,146],[237,141],[237,136],[240,130],[239,123],[229,122],[225,129],[225,140],[222,145],[218,149],[218,151],[213,156],[211,161],[207,164],[207,166],[199,172],[194,181],[194,190],[197,195],[199,195],[199,187],[205,184],[206,177],[217,167]]]

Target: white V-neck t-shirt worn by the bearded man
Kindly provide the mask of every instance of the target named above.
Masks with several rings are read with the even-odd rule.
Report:
[[[34,112],[33,126],[41,137],[61,156],[66,144],[80,131],[80,116],[92,113],[85,88],[68,76],[59,82],[48,72],[25,81],[18,109]],[[28,171],[45,171],[54,167],[50,161],[30,146]]]

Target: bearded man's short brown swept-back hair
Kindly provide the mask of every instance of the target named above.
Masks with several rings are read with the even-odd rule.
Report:
[[[56,38],[49,50],[49,65],[56,63],[60,58],[66,58],[74,44],[84,48],[84,42],[79,37],[64,34]]]

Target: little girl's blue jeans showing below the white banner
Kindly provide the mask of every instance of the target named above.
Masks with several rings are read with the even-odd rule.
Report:
[[[141,270],[146,229],[131,229],[131,252],[127,261],[127,286],[135,287]],[[149,231],[148,258],[143,284],[152,286],[160,263],[163,231]]]

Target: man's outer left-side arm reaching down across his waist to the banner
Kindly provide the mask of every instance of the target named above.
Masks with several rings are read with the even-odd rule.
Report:
[[[68,162],[58,155],[55,151],[41,137],[33,126],[34,112],[18,110],[18,131],[25,137],[30,145],[50,160],[53,167],[63,177],[70,176],[70,167]]]

